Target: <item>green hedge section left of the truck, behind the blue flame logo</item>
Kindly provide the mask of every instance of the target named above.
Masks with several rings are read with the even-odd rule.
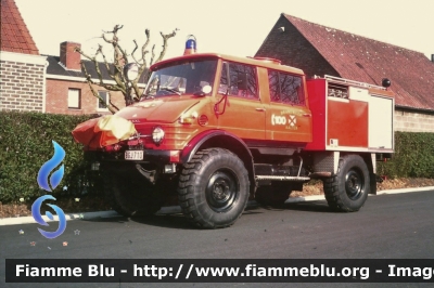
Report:
[[[37,175],[41,166],[54,154],[52,141],[66,156],[65,173],[50,194],[82,195],[99,193],[99,174],[84,159],[82,145],[75,143],[71,131],[94,116],[67,116],[41,113],[0,113],[0,201],[26,202],[50,193],[39,188]],[[55,168],[54,170],[56,170]]]

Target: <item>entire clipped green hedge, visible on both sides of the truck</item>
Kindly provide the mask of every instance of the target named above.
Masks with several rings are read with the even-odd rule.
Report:
[[[93,116],[67,116],[40,113],[0,113],[0,201],[26,202],[47,194],[39,188],[40,167],[51,159],[52,140],[66,152],[65,174],[52,192],[54,196],[102,193],[102,178],[90,171],[82,146],[71,131]],[[390,178],[434,178],[434,133],[395,133],[392,160],[378,165],[378,174]],[[56,170],[56,169],[54,169]]]

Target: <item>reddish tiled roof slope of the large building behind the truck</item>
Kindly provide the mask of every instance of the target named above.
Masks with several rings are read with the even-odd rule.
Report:
[[[434,63],[423,53],[282,15],[341,77],[373,84],[387,77],[397,106],[434,110]]]

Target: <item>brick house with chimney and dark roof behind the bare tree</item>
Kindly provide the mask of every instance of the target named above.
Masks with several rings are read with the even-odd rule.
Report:
[[[92,94],[89,84],[86,82],[85,73],[81,70],[81,55],[74,51],[80,47],[75,42],[62,42],[60,44],[60,56],[47,55],[47,113],[53,114],[110,114]],[[94,82],[99,82],[94,64],[85,61],[84,64]],[[114,84],[106,68],[100,63],[100,70],[104,83]],[[108,100],[116,107],[125,107],[124,95],[120,92],[110,92],[99,86],[93,86],[100,96]]]

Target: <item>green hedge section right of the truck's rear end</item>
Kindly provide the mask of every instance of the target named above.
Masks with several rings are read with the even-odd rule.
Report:
[[[434,178],[434,133],[395,132],[392,160],[378,165],[388,178]]]

